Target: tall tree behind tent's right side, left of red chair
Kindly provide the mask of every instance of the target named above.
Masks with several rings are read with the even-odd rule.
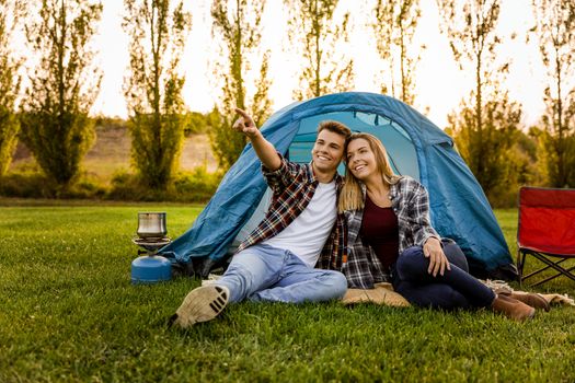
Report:
[[[508,62],[496,65],[495,49],[501,39],[496,33],[498,0],[438,0],[444,33],[460,69],[468,65],[475,73],[475,88],[470,101],[462,102],[460,115],[449,116],[455,138],[463,159],[493,200],[495,185],[507,182],[499,170],[508,161],[517,129],[520,105],[508,101],[501,90],[498,76],[507,72]]]

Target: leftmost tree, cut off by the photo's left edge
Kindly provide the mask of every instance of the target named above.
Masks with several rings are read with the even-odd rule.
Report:
[[[0,0],[0,177],[5,174],[18,142],[20,123],[14,102],[20,92],[22,59],[10,48],[14,30],[25,16],[23,0]]]

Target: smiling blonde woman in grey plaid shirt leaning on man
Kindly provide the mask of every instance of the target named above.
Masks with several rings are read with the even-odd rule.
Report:
[[[391,170],[382,143],[369,134],[346,141],[346,178],[340,197],[348,229],[343,267],[350,288],[372,289],[390,281],[410,303],[434,309],[492,307],[522,321],[534,309],[497,295],[468,272],[465,257],[450,240],[440,240],[429,220],[427,192],[415,179]],[[540,295],[524,301],[549,310]]]

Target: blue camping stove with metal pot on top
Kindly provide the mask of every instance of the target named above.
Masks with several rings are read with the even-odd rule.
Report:
[[[172,265],[158,251],[172,240],[165,229],[165,212],[139,212],[137,236],[131,239],[141,255],[131,262],[133,283],[156,283],[170,280]],[[145,254],[145,255],[142,255]]]

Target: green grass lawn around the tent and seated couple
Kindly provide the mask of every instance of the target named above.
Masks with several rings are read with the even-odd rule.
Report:
[[[574,382],[575,309],[230,305],[188,332],[166,318],[197,280],[130,283],[137,212],[183,233],[202,206],[0,208],[0,382]],[[515,257],[517,212],[497,211]],[[547,288],[575,295],[564,277]],[[544,290],[541,290],[544,291]]]

